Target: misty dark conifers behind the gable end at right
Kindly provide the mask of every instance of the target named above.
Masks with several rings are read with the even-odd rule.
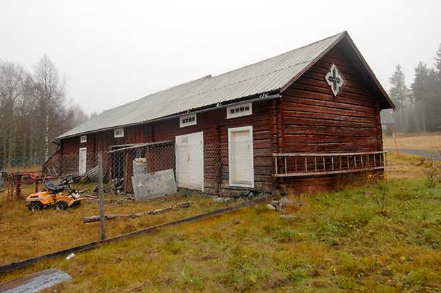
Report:
[[[415,67],[410,88],[398,64],[390,77],[389,96],[395,103],[394,130],[401,133],[441,131],[441,43],[433,67],[422,62]]]

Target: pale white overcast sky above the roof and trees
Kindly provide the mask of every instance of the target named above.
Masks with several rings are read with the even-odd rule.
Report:
[[[28,70],[43,53],[85,113],[219,75],[348,31],[389,89],[408,86],[441,43],[441,1],[0,0],[0,58]]]

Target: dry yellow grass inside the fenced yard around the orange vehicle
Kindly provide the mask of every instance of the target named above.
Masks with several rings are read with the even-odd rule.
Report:
[[[32,186],[25,186],[24,197]],[[114,197],[114,196],[113,196]],[[128,214],[167,207],[179,202],[192,201],[185,209],[172,210],[157,215],[106,221],[106,237],[145,229],[183,217],[190,217],[209,210],[217,210],[226,204],[218,204],[202,195],[168,195],[149,202],[121,202],[105,206],[107,214]],[[98,222],[83,224],[83,217],[98,215],[98,202],[83,200],[79,207],[66,211],[45,209],[30,212],[24,201],[6,200],[6,192],[0,193],[0,264],[44,255],[76,245],[100,239]]]

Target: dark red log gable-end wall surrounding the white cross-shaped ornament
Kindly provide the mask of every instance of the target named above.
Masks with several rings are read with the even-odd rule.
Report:
[[[346,81],[333,96],[325,76],[332,64]],[[380,106],[338,46],[282,93],[284,141],[279,152],[348,153],[383,150]],[[333,190],[361,174],[286,180],[295,192]]]

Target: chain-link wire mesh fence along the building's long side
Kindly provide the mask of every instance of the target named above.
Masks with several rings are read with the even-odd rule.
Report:
[[[274,190],[269,140],[117,145],[102,155],[103,182],[110,193],[133,194],[137,186],[149,182],[157,188],[173,185],[176,190],[228,192],[229,196]],[[98,183],[98,153],[79,150],[71,155],[56,154],[43,166],[43,173],[73,175],[80,183]]]

